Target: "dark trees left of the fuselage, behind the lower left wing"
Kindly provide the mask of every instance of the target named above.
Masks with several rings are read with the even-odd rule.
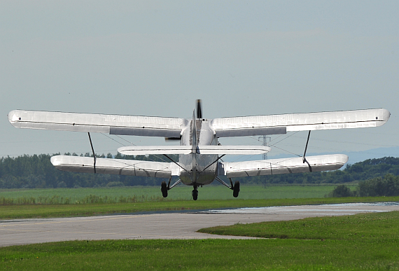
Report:
[[[158,186],[160,181],[155,178],[140,176],[123,176],[111,174],[85,174],[76,172],[62,172],[50,162],[54,155],[21,155],[16,158],[0,159],[0,188],[78,188],[78,187],[104,187],[104,186]],[[65,153],[74,155],[76,153]],[[92,157],[90,153],[80,155]],[[113,157],[96,155],[97,158],[133,159],[128,155],[118,153]],[[155,155],[139,155],[136,160],[162,161]],[[165,162],[165,161],[163,161]]]

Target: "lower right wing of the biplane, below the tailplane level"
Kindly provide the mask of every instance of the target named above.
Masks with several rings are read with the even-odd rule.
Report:
[[[344,154],[307,156],[307,162],[312,172],[335,170],[342,167],[348,156]],[[221,162],[219,163],[219,175],[228,178],[259,176],[272,174],[288,174],[310,172],[307,162],[302,158],[269,159],[245,162]]]

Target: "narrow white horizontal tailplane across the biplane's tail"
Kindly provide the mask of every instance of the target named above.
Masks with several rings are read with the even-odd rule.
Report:
[[[232,154],[232,155],[257,155],[267,153],[269,146],[209,146],[197,147],[199,154]],[[148,154],[190,154],[192,146],[127,146],[118,148],[118,153],[124,155],[148,155]]]

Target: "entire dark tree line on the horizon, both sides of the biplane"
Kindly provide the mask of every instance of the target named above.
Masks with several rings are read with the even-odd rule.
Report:
[[[65,153],[65,155],[71,155],[71,153]],[[160,186],[161,181],[164,181],[164,179],[139,176],[61,172],[52,166],[50,162],[51,156],[53,155],[41,154],[22,155],[16,158],[0,158],[0,188]],[[85,156],[90,156],[90,153],[86,153]],[[133,159],[132,156],[125,156],[120,153],[115,157],[113,157],[111,153],[108,155],[99,155],[99,157]],[[134,159],[162,161],[155,155],[138,155],[134,157]],[[165,160],[163,161],[165,162]],[[386,174],[399,175],[399,158],[385,157],[369,159],[363,162],[357,162],[353,165],[346,165],[345,169],[333,172],[253,176],[235,178],[234,181],[254,184],[348,183],[352,181],[365,181],[367,179],[383,177]]]

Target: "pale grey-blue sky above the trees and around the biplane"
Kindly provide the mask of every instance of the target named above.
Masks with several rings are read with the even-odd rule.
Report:
[[[399,1],[0,1],[0,157],[91,152],[85,133],[16,129],[13,109],[190,118],[196,99],[204,118],[385,108],[384,126],[314,131],[307,152],[398,147],[398,14]],[[306,139],[271,136],[268,156]],[[105,154],[165,144],[92,140]]]

